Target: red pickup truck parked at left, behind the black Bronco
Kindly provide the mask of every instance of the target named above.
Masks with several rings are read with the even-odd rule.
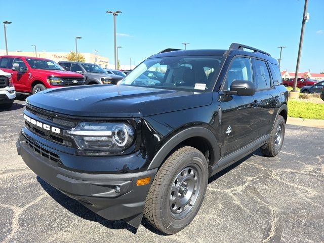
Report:
[[[65,71],[45,58],[0,56],[0,69],[11,73],[17,93],[35,94],[45,89],[85,84],[83,75]]]

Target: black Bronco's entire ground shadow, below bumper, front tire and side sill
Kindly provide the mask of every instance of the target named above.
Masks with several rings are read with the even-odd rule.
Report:
[[[234,169],[235,167],[239,166],[241,163],[243,163],[245,160],[248,158],[255,156],[255,155],[260,155],[262,156],[262,153],[260,150],[256,150],[253,153],[245,156],[244,158],[238,160],[236,163],[233,165],[227,167],[226,169],[222,170],[221,172],[217,173],[216,175],[212,176],[209,178],[208,183],[211,183],[215,181],[216,179],[222,177],[225,175],[227,172],[230,170]],[[91,210],[87,209],[85,206],[80,204],[77,200],[70,198],[69,196],[65,195],[61,191],[57,190],[56,188],[52,187],[50,184],[45,182],[42,178],[36,177],[38,183],[44,188],[44,190],[55,200],[57,203],[59,203],[62,207],[70,211],[71,213],[75,214],[76,216],[83,218],[85,220],[91,220],[94,222],[98,222],[101,225],[109,228],[109,229],[127,229],[132,233],[136,233],[137,229],[132,227],[131,225],[127,224],[126,222],[122,220],[117,220],[117,221],[110,221],[107,219],[102,218],[101,216],[97,215],[96,213],[92,212]],[[141,224],[151,231],[152,233],[158,234],[158,235],[166,235],[164,233],[161,233],[154,227],[152,227],[144,218],[142,219]]]

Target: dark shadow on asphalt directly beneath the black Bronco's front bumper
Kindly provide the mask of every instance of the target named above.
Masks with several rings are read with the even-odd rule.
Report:
[[[65,195],[61,191],[57,190],[46,181],[44,181],[39,176],[36,177],[38,183],[44,188],[44,190],[55,200],[59,203],[62,207],[70,211],[71,213],[75,214],[76,216],[83,218],[85,220],[90,220],[94,222],[98,222],[101,225],[109,228],[109,229],[127,229],[132,233],[136,233],[137,229],[132,227],[131,225],[125,223],[121,220],[110,221],[107,219],[102,218],[98,214],[92,212],[91,210],[87,209],[85,206],[80,204],[77,200],[70,198],[69,196]]]

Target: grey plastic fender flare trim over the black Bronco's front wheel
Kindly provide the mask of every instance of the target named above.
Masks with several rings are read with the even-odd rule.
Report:
[[[154,169],[160,167],[161,164],[164,163],[167,155],[174,149],[178,144],[183,142],[184,140],[192,137],[202,137],[206,139],[211,145],[211,161],[215,161],[215,158],[219,158],[220,152],[218,147],[218,142],[215,135],[207,128],[203,127],[191,127],[181,132],[177,133],[173,137],[171,137],[155,154],[151,163],[149,164],[147,170]],[[213,159],[214,158],[214,159]],[[213,161],[213,162],[214,162]]]

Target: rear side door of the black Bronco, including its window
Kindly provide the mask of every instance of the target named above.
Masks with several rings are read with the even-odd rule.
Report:
[[[260,107],[262,108],[262,113],[259,125],[259,136],[264,136],[269,134],[272,129],[273,121],[276,116],[275,111],[279,104],[280,92],[274,87],[268,63],[261,59],[252,59],[252,63],[257,93],[261,96]]]

